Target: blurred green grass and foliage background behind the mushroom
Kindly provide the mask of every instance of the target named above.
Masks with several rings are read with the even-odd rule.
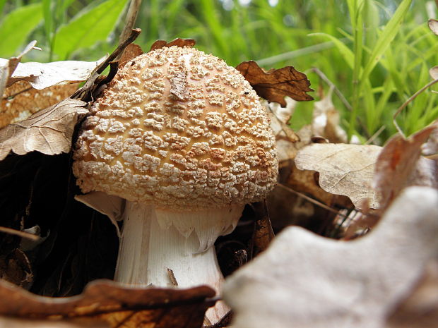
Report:
[[[25,61],[95,61],[117,47],[127,0],[0,0],[0,57],[37,40],[42,51]],[[231,66],[255,60],[264,68],[294,66],[319,97],[331,80],[350,105],[333,96],[341,124],[365,142],[396,133],[393,113],[432,78],[438,37],[427,27],[435,1],[420,0],[143,0],[136,43],[147,51],[158,39],[194,38],[196,47]],[[438,117],[431,87],[398,116],[406,134]],[[313,102],[300,103],[291,126],[312,119]]]

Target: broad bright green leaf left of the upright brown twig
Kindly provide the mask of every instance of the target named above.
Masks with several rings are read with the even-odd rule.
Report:
[[[61,26],[55,35],[54,54],[59,59],[66,59],[76,49],[91,47],[96,42],[105,40],[114,29],[126,1],[105,1]]]

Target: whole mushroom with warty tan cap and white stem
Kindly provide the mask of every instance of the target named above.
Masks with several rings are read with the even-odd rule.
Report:
[[[276,184],[269,123],[247,80],[202,51],[164,47],[119,70],[73,156],[83,193],[126,200],[116,281],[220,292],[216,238]],[[207,317],[226,310],[216,303]]]

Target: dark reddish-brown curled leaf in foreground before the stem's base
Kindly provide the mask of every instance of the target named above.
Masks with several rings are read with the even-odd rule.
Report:
[[[114,328],[199,328],[206,308],[212,303],[206,300],[214,294],[208,286],[129,288],[114,281],[100,280],[88,284],[79,296],[47,298],[1,282],[0,315],[61,323],[88,319],[97,324],[106,322],[105,327]]]

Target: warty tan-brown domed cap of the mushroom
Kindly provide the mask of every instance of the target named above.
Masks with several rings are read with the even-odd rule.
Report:
[[[90,109],[73,174],[92,190],[168,209],[261,200],[278,176],[259,97],[225,61],[165,47],[132,59]]]

